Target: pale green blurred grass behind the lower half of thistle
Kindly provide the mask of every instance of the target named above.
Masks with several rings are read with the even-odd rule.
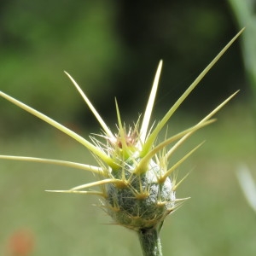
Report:
[[[255,214],[247,206],[235,176],[236,166],[241,161],[253,164],[255,156],[250,113],[249,108],[232,105],[218,113],[216,124],[189,139],[192,145],[203,139],[207,143],[180,168],[179,177],[183,177],[182,172],[193,172],[178,197],[192,198],[177,210],[178,214],[174,212],[166,219],[161,234],[164,254],[172,250],[173,255],[189,256],[254,255]],[[188,126],[185,116],[178,116],[172,119],[169,131],[175,130],[172,124],[177,123]],[[94,163],[84,147],[50,130],[15,141],[6,138],[0,150],[1,154]],[[1,255],[8,255],[9,238],[19,230],[32,233],[31,255],[141,255],[136,234],[112,225],[104,212],[90,207],[90,202],[96,202],[93,196],[44,192],[88,183],[95,180],[92,174],[8,160],[1,160],[0,172]]]

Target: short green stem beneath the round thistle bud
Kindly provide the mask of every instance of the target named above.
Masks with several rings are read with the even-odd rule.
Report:
[[[157,228],[138,230],[144,256],[162,256],[159,230]]]

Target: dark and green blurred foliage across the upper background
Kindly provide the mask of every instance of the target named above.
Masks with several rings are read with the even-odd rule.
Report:
[[[134,113],[137,119],[160,59],[157,108],[166,109],[237,32],[222,0],[10,0],[0,3],[0,21],[1,90],[61,122],[86,127],[96,122],[63,70],[104,117],[115,116],[117,96],[125,117]],[[242,99],[247,85],[236,43],[189,97],[185,111],[200,113],[238,88],[244,89]],[[0,131],[39,129],[41,123],[21,112],[1,100]]]

